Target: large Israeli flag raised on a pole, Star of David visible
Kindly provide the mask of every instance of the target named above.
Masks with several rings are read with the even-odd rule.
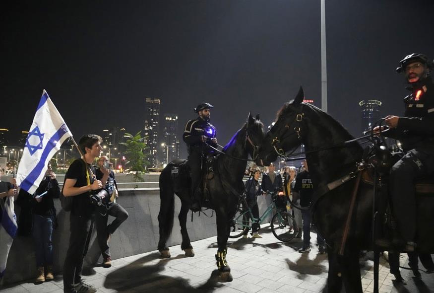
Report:
[[[71,132],[44,89],[18,166],[19,187],[35,193],[44,179],[48,162],[69,137]]]

